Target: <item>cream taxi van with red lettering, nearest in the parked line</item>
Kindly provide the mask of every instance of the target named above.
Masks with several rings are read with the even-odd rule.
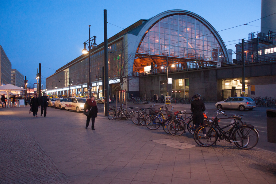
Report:
[[[70,97],[66,102],[63,102],[63,105],[67,111],[75,110],[76,112],[79,112],[84,110],[85,102],[86,98]]]

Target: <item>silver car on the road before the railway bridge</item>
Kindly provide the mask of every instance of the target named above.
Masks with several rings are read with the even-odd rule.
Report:
[[[216,103],[217,109],[245,109],[253,110],[256,107],[255,101],[250,97],[231,97],[222,102]]]

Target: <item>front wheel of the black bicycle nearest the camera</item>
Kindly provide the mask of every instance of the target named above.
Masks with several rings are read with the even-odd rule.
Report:
[[[217,132],[208,125],[200,126],[194,131],[194,140],[200,146],[212,146],[217,141]]]

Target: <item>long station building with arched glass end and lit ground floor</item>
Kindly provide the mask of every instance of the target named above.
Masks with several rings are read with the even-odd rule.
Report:
[[[103,46],[101,43],[97,49],[90,51],[91,91],[98,96],[102,96],[99,76],[103,76]],[[152,92],[165,95],[168,70],[169,75],[174,76],[172,84],[168,85],[169,95],[177,91],[179,97],[189,97],[203,86],[195,88],[198,84],[194,75],[179,77],[179,73],[216,68],[217,63],[219,66],[232,63],[229,51],[213,26],[186,10],[169,10],[148,20],[137,21],[109,38],[108,49],[109,73],[104,77],[109,78],[111,96],[120,89],[126,89],[135,96],[149,97]],[[88,55],[83,54],[46,78],[47,92],[57,96],[68,95],[70,85],[71,96],[88,97],[88,75]],[[148,79],[146,76],[154,77]],[[145,85],[148,83],[145,80],[152,80],[154,84]],[[215,83],[207,86],[206,91],[210,94],[215,91],[212,99],[217,100],[217,82],[215,79],[212,82]],[[152,86],[157,86],[158,90]],[[151,89],[145,89],[147,87]]]

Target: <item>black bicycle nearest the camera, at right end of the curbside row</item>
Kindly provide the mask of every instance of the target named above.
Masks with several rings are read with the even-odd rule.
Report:
[[[224,112],[223,110],[218,110],[217,116],[219,114],[227,116]],[[200,126],[195,130],[194,140],[198,145],[208,147],[215,144],[219,138],[219,141],[234,142],[241,149],[251,149],[256,146],[259,140],[259,132],[253,125],[243,123],[241,120],[243,115],[222,118],[217,116],[209,120],[209,125]],[[221,119],[234,120],[234,122],[221,128],[218,124]],[[226,128],[229,129],[226,131]]]

